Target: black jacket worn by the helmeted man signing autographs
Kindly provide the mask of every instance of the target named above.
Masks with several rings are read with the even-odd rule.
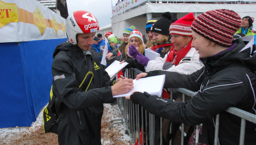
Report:
[[[101,144],[103,103],[113,102],[114,81],[101,67],[96,53],[89,52],[92,63],[86,62],[82,49],[67,42],[57,45],[53,52],[53,96],[60,112],[68,108],[57,129],[59,144]],[[89,64],[94,65],[94,76],[85,91],[87,87],[79,86],[88,73]]]

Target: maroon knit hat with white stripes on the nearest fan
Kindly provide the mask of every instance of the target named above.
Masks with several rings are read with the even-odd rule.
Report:
[[[230,47],[234,33],[240,28],[240,16],[232,10],[212,10],[197,16],[191,25],[193,31],[204,38]]]

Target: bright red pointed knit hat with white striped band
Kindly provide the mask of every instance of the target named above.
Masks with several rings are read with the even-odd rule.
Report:
[[[194,14],[189,13],[183,16],[182,18],[176,20],[176,22],[172,23],[169,28],[170,35],[177,34],[177,35],[185,35],[185,36],[192,37],[191,24],[194,19],[195,19]]]

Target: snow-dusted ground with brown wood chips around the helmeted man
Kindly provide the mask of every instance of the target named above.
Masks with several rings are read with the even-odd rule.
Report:
[[[0,129],[0,144],[58,144],[56,134],[44,134],[43,109],[31,127],[17,126]],[[117,105],[104,104],[104,114],[101,123],[102,145],[133,144],[130,136],[125,134],[126,127],[124,125],[118,124],[114,125],[111,130],[108,129],[108,122],[117,118],[121,118]]]

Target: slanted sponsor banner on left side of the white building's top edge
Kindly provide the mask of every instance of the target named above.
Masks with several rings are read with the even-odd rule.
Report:
[[[112,7],[112,16],[123,13],[126,10],[131,9],[132,7],[138,6],[143,2],[147,2],[148,0],[124,0],[114,7]]]

